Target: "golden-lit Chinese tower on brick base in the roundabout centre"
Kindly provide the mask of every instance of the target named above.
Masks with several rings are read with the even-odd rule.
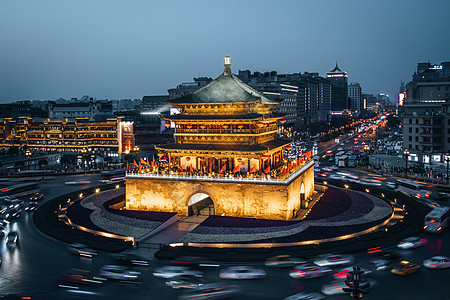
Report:
[[[290,219],[314,190],[313,163],[291,159],[291,140],[278,137],[284,116],[273,100],[225,70],[207,86],[168,103],[175,142],[155,146],[159,160],[127,175],[128,209],[189,215],[192,197],[211,198],[214,213]]]

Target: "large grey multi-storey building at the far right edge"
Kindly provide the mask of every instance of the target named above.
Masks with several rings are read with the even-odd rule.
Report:
[[[442,162],[450,152],[450,62],[417,64],[406,86],[403,147],[412,161]]]

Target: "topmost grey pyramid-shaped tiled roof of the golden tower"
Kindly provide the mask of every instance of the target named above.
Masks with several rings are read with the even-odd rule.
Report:
[[[254,90],[231,72],[224,72],[213,82],[167,103],[238,103],[253,102],[261,99],[263,103],[280,103]]]

